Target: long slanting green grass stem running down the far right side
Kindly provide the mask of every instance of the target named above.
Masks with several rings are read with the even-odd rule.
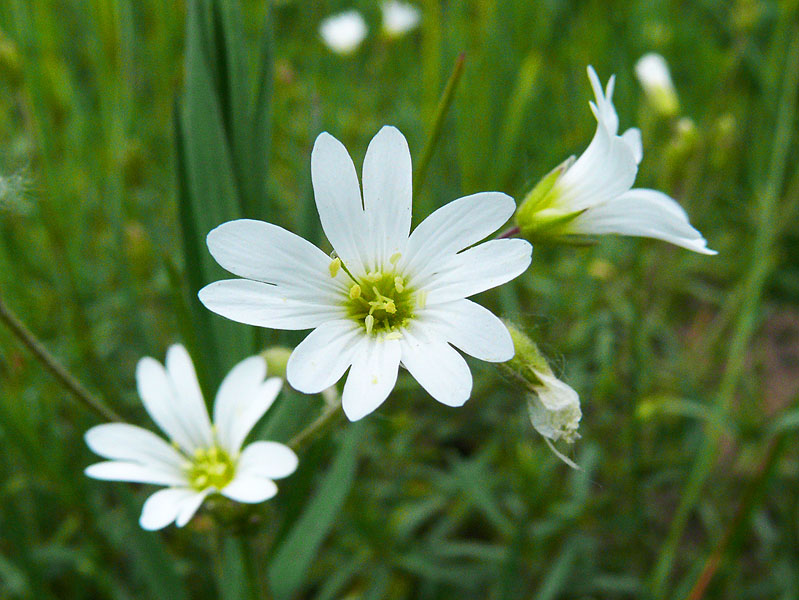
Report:
[[[780,191],[784,183],[792,127],[796,116],[797,92],[799,91],[799,38],[794,38],[790,42],[782,91],[769,173],[759,194],[758,223],[751,252],[752,263],[741,286],[741,310],[738,313],[736,327],[729,344],[725,369],[716,399],[717,418],[711,422],[710,428],[705,434],[704,443],[691,469],[685,492],[652,574],[652,597],[658,600],[667,595],[667,581],[677,557],[683,531],[716,462],[723,432],[720,422],[729,413],[738,384],[746,371],[744,368],[746,349],[757,323],[763,288],[774,267],[774,246],[778,241],[780,230],[780,223],[776,217],[778,216]]]

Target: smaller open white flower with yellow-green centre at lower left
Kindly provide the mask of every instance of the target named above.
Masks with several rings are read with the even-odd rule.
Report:
[[[86,469],[95,479],[167,486],[144,503],[140,524],[155,530],[175,521],[183,527],[209,494],[238,502],[268,500],[277,493],[273,479],[297,468],[297,456],[277,442],[253,442],[247,434],[272,405],[282,381],[266,377],[266,362],[252,356],[225,377],[208,417],[197,375],[183,346],[169,348],[166,369],[143,358],[136,383],[144,408],[171,439],[125,423],[109,423],[86,432],[86,443],[110,459]]]

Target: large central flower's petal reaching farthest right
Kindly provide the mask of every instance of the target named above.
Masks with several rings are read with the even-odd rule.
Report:
[[[427,284],[433,306],[483,292],[524,273],[533,247],[525,240],[491,240],[456,254]]]

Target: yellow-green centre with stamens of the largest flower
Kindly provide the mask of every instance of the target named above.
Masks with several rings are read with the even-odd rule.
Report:
[[[399,338],[399,330],[414,317],[417,296],[394,271],[368,273],[350,286],[347,312],[368,335]]]

